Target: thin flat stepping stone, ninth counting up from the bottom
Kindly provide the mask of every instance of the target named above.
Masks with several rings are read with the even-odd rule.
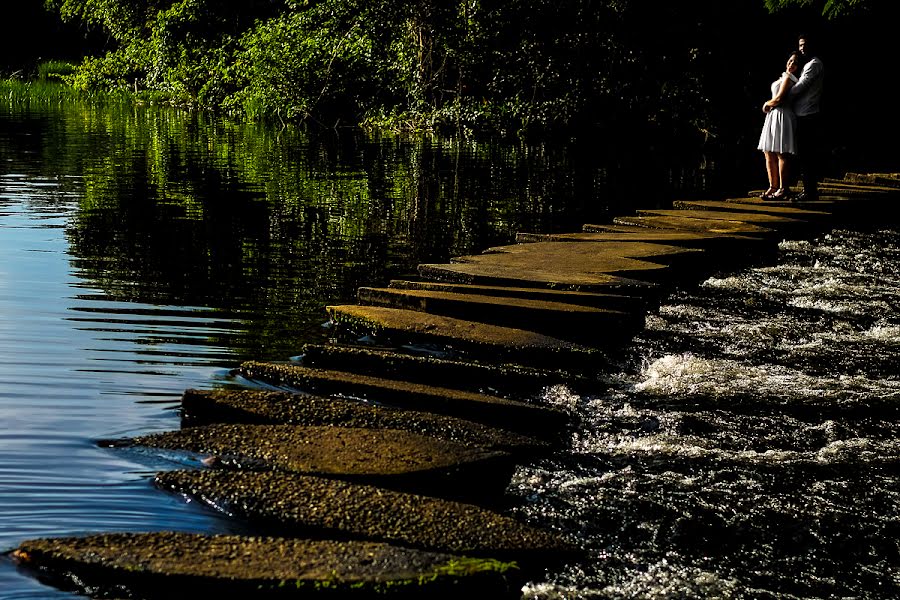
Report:
[[[625,294],[602,292],[577,292],[572,290],[552,290],[535,287],[513,287],[505,285],[473,285],[466,283],[442,283],[439,281],[406,281],[392,280],[388,287],[398,290],[434,290],[438,292],[454,292],[457,294],[479,294],[498,298],[526,298],[530,300],[547,300],[550,302],[566,302],[608,308],[611,310],[632,310],[641,306],[643,298]]]

